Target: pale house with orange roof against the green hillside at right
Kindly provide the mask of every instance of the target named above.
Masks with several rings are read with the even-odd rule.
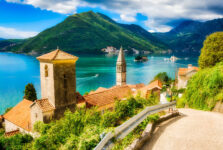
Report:
[[[186,88],[188,80],[199,70],[191,64],[187,68],[179,68],[177,76],[177,88]]]

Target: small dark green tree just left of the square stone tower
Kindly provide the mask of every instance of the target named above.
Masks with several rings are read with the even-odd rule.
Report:
[[[25,93],[24,95],[25,99],[32,100],[32,101],[37,99],[36,89],[32,83],[28,83],[26,85],[24,93]]]

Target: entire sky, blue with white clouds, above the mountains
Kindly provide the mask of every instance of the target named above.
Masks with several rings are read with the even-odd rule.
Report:
[[[184,20],[223,18],[223,0],[0,0],[0,38],[28,38],[86,11],[149,32],[168,32]]]

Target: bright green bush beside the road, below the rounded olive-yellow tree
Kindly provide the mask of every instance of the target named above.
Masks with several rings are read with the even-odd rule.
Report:
[[[223,63],[198,71],[188,82],[178,106],[212,110],[223,99]]]

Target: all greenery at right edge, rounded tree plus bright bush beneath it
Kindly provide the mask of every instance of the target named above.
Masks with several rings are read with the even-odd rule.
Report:
[[[189,80],[180,107],[212,110],[217,101],[223,101],[223,33],[217,32],[204,42],[199,57],[199,70]]]

